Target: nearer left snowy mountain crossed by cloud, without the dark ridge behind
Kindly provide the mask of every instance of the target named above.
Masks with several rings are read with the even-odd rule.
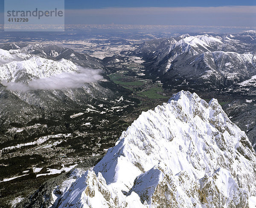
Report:
[[[11,56],[10,51],[4,52]],[[99,80],[92,80],[93,74],[100,76],[98,70],[81,69],[69,60],[55,61],[37,55],[0,65],[1,130],[5,132],[15,123],[27,125],[42,117],[50,122],[52,111],[60,119],[64,114],[61,111],[81,111],[95,100],[116,100],[119,96],[111,89],[91,83]]]

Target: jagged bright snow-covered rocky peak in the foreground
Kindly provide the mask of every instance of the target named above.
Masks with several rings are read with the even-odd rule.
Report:
[[[256,196],[256,154],[217,100],[181,91],[62,190],[53,207],[244,208]]]

